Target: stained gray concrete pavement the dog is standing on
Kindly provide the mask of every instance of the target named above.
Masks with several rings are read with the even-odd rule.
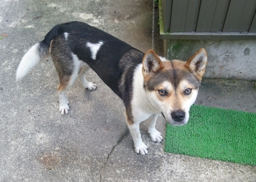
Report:
[[[146,52],[151,1],[0,0],[0,181],[256,181],[256,166],[167,154],[141,124],[149,154],[134,153],[123,104],[93,71],[67,92],[70,113],[58,111],[51,60],[15,82],[23,54],[55,24],[79,20]],[[156,12],[157,14],[157,12]],[[157,24],[157,17],[156,17]],[[157,27],[157,25],[156,25]],[[155,50],[163,54],[156,30]],[[213,60],[209,60],[213,61]],[[204,79],[196,104],[256,111],[253,81]],[[157,128],[165,131],[163,118]]]

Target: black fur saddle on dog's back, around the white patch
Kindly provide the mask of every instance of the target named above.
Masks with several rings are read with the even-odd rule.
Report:
[[[65,32],[68,33],[67,41]],[[76,54],[79,60],[86,62],[102,81],[123,99],[125,104],[130,103],[133,73],[135,67],[142,63],[142,52],[109,33],[82,22],[69,22],[53,27],[40,43],[42,51],[49,48],[52,40],[51,52],[53,56],[59,54],[59,57],[66,57],[63,59],[64,65],[72,64],[71,53]],[[100,41],[103,44],[96,54],[96,60],[93,60],[92,52],[86,44],[97,44]],[[61,61],[60,58],[58,60]]]

